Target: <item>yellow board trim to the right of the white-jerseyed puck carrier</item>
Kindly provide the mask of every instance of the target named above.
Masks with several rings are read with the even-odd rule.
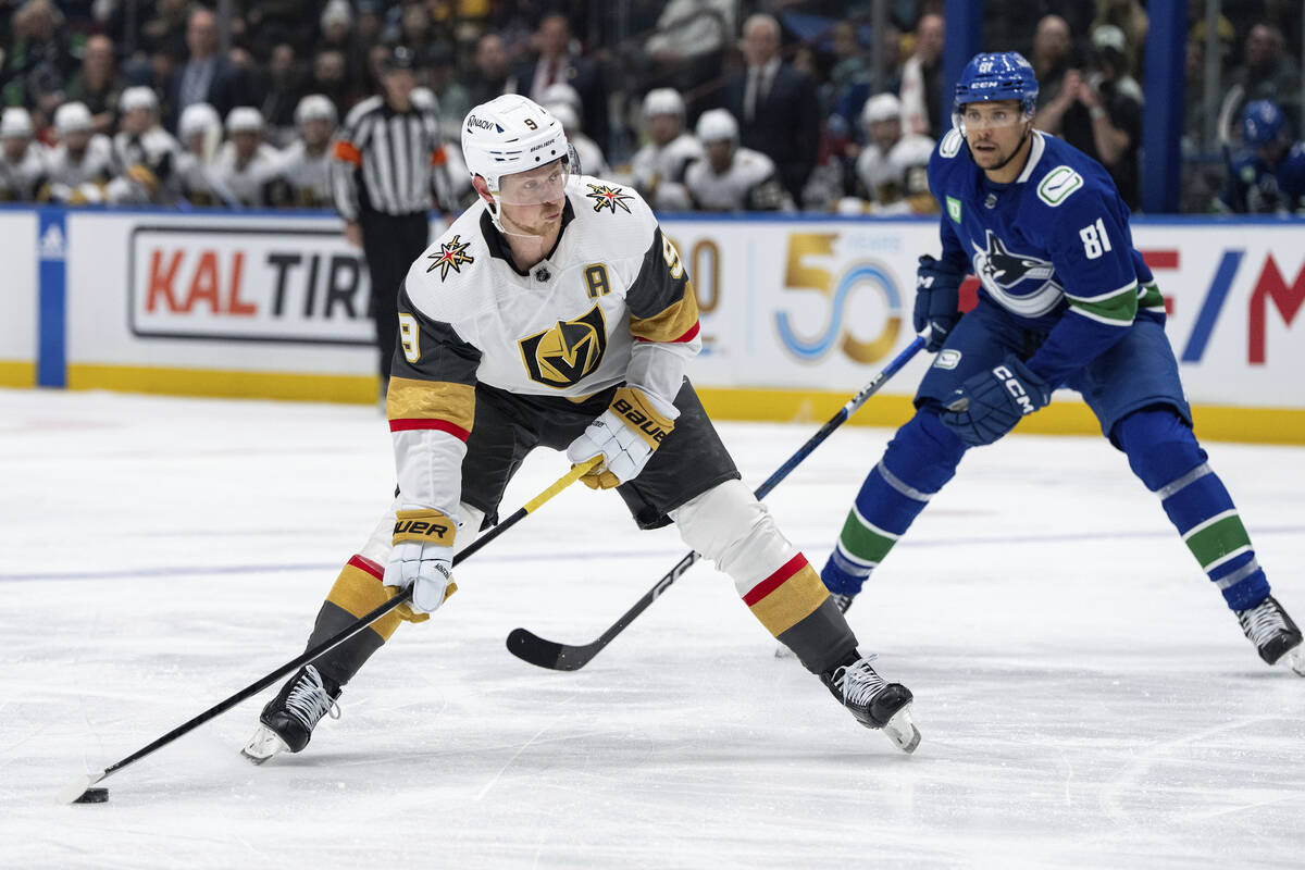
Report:
[[[718,390],[698,387],[713,420],[758,420],[821,424],[847,402],[847,393],[822,390]],[[877,395],[848,421],[861,427],[897,428],[911,419],[908,395]],[[1191,408],[1202,441],[1305,445],[1305,408],[1244,408],[1198,404]],[[1092,411],[1079,400],[1056,399],[1019,423],[1024,434],[1101,434]]]

